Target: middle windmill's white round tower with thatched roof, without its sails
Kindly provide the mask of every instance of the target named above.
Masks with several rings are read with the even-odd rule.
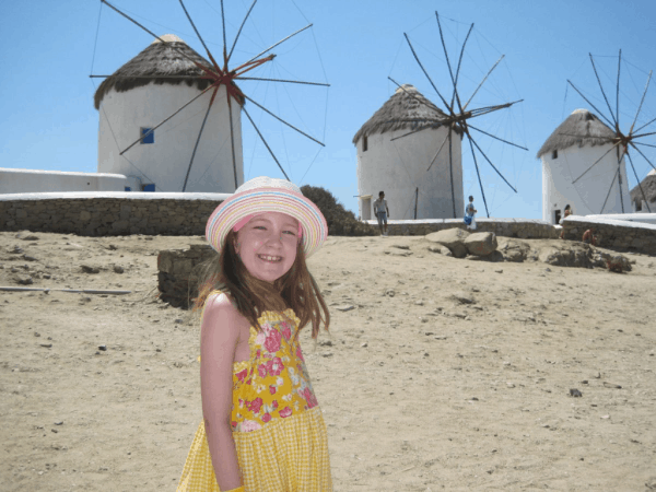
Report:
[[[379,191],[385,191],[391,219],[462,216],[461,136],[452,131],[449,165],[448,140],[442,145],[449,131],[445,118],[414,86],[405,84],[355,133],[363,220],[373,216]]]

